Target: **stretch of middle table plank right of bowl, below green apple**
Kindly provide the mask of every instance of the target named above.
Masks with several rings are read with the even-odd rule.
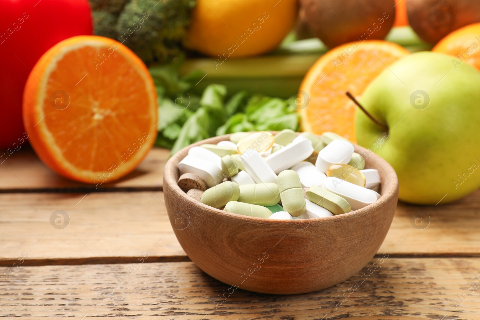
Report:
[[[444,205],[413,206],[398,201],[379,252],[397,256],[478,257],[479,229],[480,190]]]

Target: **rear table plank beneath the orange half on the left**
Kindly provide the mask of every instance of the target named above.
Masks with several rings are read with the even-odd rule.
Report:
[[[170,151],[153,148],[144,161],[118,181],[98,185],[101,190],[162,190],[163,169]],[[7,153],[8,154],[8,153]],[[30,146],[23,146],[0,159],[0,192],[88,192],[96,185],[75,182],[45,166]]]

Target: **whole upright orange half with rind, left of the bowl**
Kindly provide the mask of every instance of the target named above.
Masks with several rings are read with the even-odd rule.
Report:
[[[25,84],[23,117],[40,159],[85,183],[131,172],[156,139],[152,77],[129,48],[76,36],[50,48]]]

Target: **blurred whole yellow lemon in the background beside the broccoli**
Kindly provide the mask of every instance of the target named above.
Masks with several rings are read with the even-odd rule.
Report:
[[[282,42],[297,13],[297,0],[198,1],[186,46],[216,58],[217,64],[259,55]]]

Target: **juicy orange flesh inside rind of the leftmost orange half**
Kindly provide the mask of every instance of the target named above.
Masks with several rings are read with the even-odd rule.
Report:
[[[116,52],[96,65],[93,61],[101,61],[96,56],[100,53],[96,47],[66,53],[50,73],[43,101],[44,121],[64,157],[92,171],[108,168],[112,158],[120,159],[151,121],[145,116],[149,101],[140,75]],[[50,105],[50,95],[58,89],[70,96],[70,105],[63,110]]]

